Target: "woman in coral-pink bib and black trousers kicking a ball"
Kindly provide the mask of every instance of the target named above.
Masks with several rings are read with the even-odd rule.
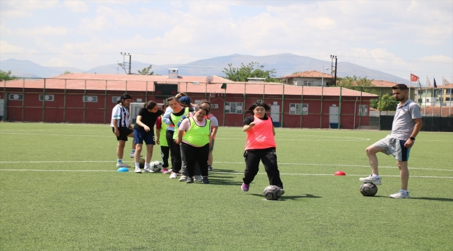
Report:
[[[245,171],[243,185],[241,189],[247,192],[250,188],[250,183],[258,174],[259,161],[263,162],[264,169],[268,173],[269,185],[277,185],[282,189],[284,194],[283,183],[280,180],[280,173],[277,167],[277,153],[275,149],[275,129],[272,125],[272,119],[266,116],[266,111],[270,107],[264,103],[256,102],[247,112],[253,114],[245,118],[243,123],[243,131],[247,132],[247,140],[245,143]]]

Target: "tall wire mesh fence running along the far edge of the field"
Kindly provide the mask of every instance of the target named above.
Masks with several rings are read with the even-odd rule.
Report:
[[[392,100],[390,86],[357,86],[351,91],[336,86],[270,83],[227,83],[226,89],[222,89],[224,83],[158,83],[177,84],[178,91],[187,93],[193,101],[210,100],[213,113],[223,126],[241,126],[247,107],[261,100],[272,106],[270,116],[279,127],[387,130],[387,121],[394,115],[391,107],[398,103]],[[165,96],[156,93],[154,84],[133,79],[62,78],[0,82],[0,116],[3,121],[110,123],[112,107],[125,92],[136,102],[163,102]],[[409,96],[420,106],[424,118],[432,118],[424,119],[429,124],[424,130],[450,131],[451,88],[411,88]],[[336,113],[333,109],[332,114],[332,107],[337,107]]]

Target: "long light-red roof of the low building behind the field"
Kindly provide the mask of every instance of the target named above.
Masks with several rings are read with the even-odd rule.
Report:
[[[71,77],[69,79],[68,77]],[[79,77],[79,79],[75,78]],[[85,77],[85,78],[83,78]],[[340,87],[321,86],[293,86],[288,84],[272,83],[244,83],[231,82],[228,79],[214,76],[214,81],[219,82],[206,84],[206,77],[185,77],[180,79],[169,79],[167,76],[145,76],[145,75],[100,75],[100,74],[72,74],[63,75],[49,79],[15,79],[7,82],[0,82],[0,87],[6,85],[8,88],[33,88],[33,89],[88,89],[88,90],[112,90],[112,91],[154,91],[154,81],[167,84],[178,84],[178,90],[187,93],[224,93],[221,89],[223,83],[227,83],[227,94],[260,94],[263,95],[295,95],[301,96],[339,96]],[[162,80],[159,80],[162,79]],[[182,79],[184,79],[182,81]],[[199,84],[188,79],[198,79]],[[179,80],[179,81],[178,81]],[[227,81],[225,81],[227,80]],[[127,84],[126,84],[127,82]],[[360,91],[341,89],[341,96],[360,97]],[[364,97],[377,97],[371,93],[362,93]]]

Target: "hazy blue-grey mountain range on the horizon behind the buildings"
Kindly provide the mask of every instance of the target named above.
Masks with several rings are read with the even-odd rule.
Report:
[[[201,59],[185,64],[167,64],[155,65],[153,63],[142,63],[132,61],[131,73],[138,73],[138,70],[146,68],[150,65],[155,75],[167,75],[169,68],[178,68],[178,73],[181,76],[207,76],[217,75],[224,76],[222,70],[228,68],[231,63],[232,67],[240,67],[241,63],[247,65],[250,62],[257,62],[264,66],[263,70],[275,69],[275,76],[282,77],[291,75],[295,72],[303,72],[307,70],[317,70],[321,72],[323,68],[332,68],[331,61],[323,61],[314,59],[309,56],[298,56],[295,54],[275,54],[269,56],[249,56],[241,54],[232,54],[229,56],[217,56],[210,59]],[[104,66],[96,66],[89,70],[82,70],[75,67],[53,67],[40,66],[38,63],[33,63],[29,60],[8,59],[0,61],[0,70],[8,71],[16,77],[55,77],[61,75],[65,71],[71,73],[98,73],[98,74],[126,74],[118,63],[111,63]],[[330,73],[330,69],[324,70],[324,73]],[[403,79],[395,75],[383,73],[379,70],[373,70],[359,66],[355,63],[338,62],[337,77],[346,77],[356,75],[358,77],[367,77],[368,79],[385,80],[397,83],[407,83],[408,79]]]

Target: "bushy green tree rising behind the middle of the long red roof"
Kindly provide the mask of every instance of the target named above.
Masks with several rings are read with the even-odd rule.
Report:
[[[279,82],[275,78],[275,69],[272,70],[263,70],[264,66],[260,66],[259,63],[252,62],[244,65],[240,63],[240,67],[232,67],[232,63],[228,64],[228,69],[224,68],[222,73],[225,73],[227,79],[237,82],[247,82],[248,77],[260,77],[265,78],[265,82]]]

